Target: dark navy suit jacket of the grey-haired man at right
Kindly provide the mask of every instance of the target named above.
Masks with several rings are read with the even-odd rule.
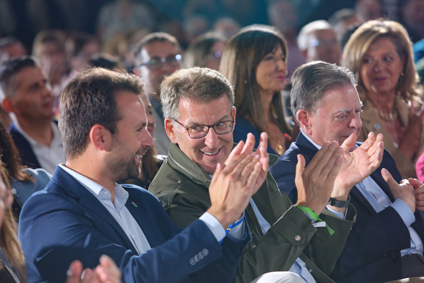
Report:
[[[317,151],[303,133],[300,133],[296,143],[292,143],[270,168],[280,191],[287,193],[294,203],[297,201],[294,182],[297,154],[305,157],[307,165]],[[393,202],[390,188],[381,176],[382,168],[386,168],[396,182],[401,181],[393,157],[386,150],[381,165],[370,176]],[[373,283],[402,278],[400,250],[410,247],[410,234],[399,214],[392,207],[377,213],[356,186],[351,190],[351,204],[357,210],[356,223],[330,277],[336,282]],[[412,227],[424,243],[424,226],[418,211],[416,219]]]

